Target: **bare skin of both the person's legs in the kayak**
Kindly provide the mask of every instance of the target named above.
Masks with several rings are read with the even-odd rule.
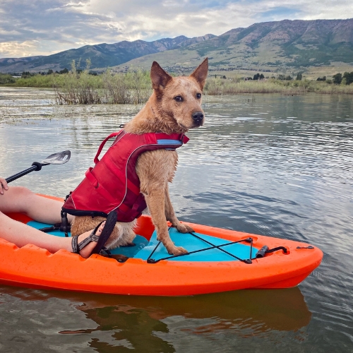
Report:
[[[4,215],[4,213],[20,212],[28,215],[37,222],[54,224],[61,222],[61,206],[62,203],[59,201],[43,198],[20,186],[9,187],[7,190],[4,188],[3,193],[0,194],[1,238],[16,244],[18,247],[33,244],[47,249],[51,253],[55,253],[61,249],[72,252],[71,237],[53,237],[50,234],[40,232],[38,229],[24,225]],[[72,217],[68,217],[68,221],[71,222],[71,220]],[[105,222],[97,230],[97,236],[100,236],[102,233],[104,225]],[[91,232],[88,231],[80,234],[78,243],[87,238]],[[80,251],[80,256],[88,258],[95,246],[96,243],[91,242]]]

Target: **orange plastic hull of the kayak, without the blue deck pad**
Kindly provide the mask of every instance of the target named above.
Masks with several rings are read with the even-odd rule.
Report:
[[[24,215],[9,215],[29,222]],[[284,246],[252,263],[241,261],[173,261],[147,263],[128,258],[119,263],[114,258],[92,255],[82,258],[65,250],[49,253],[28,244],[18,248],[0,238],[0,283],[37,289],[62,289],[78,292],[131,294],[145,296],[182,296],[226,292],[237,289],[295,287],[320,265],[323,253],[298,241],[265,237],[228,229],[186,223],[201,234],[238,241],[251,237],[253,246],[269,249]],[[136,233],[150,239],[154,227],[148,216],[138,219]],[[1,237],[1,234],[0,234]],[[182,237],[182,234],[181,234]]]

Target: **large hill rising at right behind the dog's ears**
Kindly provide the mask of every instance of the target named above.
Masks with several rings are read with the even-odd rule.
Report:
[[[115,69],[148,68],[157,60],[169,70],[190,71],[205,56],[211,71],[307,71],[342,63],[349,67],[353,65],[353,19],[256,23],[201,43],[143,56]]]

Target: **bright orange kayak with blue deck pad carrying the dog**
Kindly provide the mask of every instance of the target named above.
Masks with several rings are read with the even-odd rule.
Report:
[[[46,226],[25,215],[9,216],[32,227]],[[303,281],[323,258],[316,246],[298,241],[186,224],[194,234],[169,231],[174,243],[189,251],[179,257],[170,257],[158,244],[152,221],[145,215],[138,218],[136,246],[114,249],[113,258],[95,254],[85,259],[65,250],[49,253],[32,244],[18,248],[0,238],[0,283],[149,296],[288,288]],[[59,231],[52,234],[63,236]],[[265,252],[264,246],[273,252]]]

